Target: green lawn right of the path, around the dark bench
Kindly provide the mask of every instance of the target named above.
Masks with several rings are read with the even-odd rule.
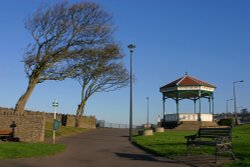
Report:
[[[175,156],[186,154],[184,136],[195,131],[174,131],[155,133],[153,136],[135,136],[133,142],[139,147],[160,156]],[[250,124],[234,127],[233,151],[239,161],[225,166],[250,166]],[[213,148],[205,148],[206,153],[213,153]],[[199,150],[194,154],[199,154]]]

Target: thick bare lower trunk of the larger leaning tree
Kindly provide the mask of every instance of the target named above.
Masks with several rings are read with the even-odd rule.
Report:
[[[32,93],[32,91],[34,90],[36,84],[37,84],[37,79],[30,79],[28,88],[26,90],[26,92],[19,98],[19,100],[16,103],[16,107],[15,107],[15,113],[20,113],[22,114],[24,109],[25,109],[25,105]]]

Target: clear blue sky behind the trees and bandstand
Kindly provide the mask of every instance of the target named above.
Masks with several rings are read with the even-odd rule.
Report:
[[[5,0],[0,4],[0,106],[14,107],[26,90],[24,50],[32,42],[24,20],[49,0]],[[76,1],[69,1],[76,2]],[[127,55],[134,51],[134,123],[146,122],[149,97],[150,122],[162,114],[159,88],[188,72],[217,86],[215,112],[225,112],[226,100],[236,86],[238,106],[250,109],[250,1],[248,0],[95,0],[113,14],[115,39]],[[73,80],[46,81],[37,85],[26,108],[52,112],[52,101],[59,101],[59,112],[74,114],[80,101],[80,85]],[[180,102],[180,112],[192,112],[191,101]],[[202,101],[208,111],[208,103]],[[229,103],[233,111],[233,102]],[[167,112],[175,112],[167,101]],[[87,103],[86,115],[113,123],[128,123],[129,87],[116,92],[95,94]]]

